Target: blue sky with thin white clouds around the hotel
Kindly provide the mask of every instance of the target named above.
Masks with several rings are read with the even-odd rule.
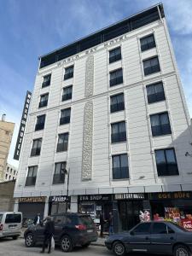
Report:
[[[26,90],[32,90],[38,56],[133,15],[154,0],[0,0],[0,116],[15,122],[13,160]],[[184,93],[192,116],[191,0],[162,1]]]

